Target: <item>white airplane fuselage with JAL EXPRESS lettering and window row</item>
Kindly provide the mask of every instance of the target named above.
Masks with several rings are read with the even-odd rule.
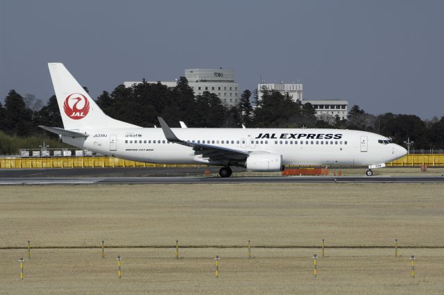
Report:
[[[358,130],[282,128],[172,128],[180,140],[282,155],[282,165],[374,165],[405,155],[388,138]],[[168,142],[162,128],[82,130],[86,138],[63,142],[103,155],[161,164],[205,163],[189,146]],[[379,141],[379,142],[378,142]]]

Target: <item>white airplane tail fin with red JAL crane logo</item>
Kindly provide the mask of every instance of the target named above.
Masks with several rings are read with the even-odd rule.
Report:
[[[65,65],[60,62],[50,62],[48,67],[66,130],[138,127],[105,115]]]

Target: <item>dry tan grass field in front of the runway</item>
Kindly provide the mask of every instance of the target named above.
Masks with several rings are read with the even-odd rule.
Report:
[[[443,294],[444,185],[0,187],[0,294]],[[33,246],[133,246],[33,249]],[[173,248],[134,246],[246,246]],[[320,248],[277,246],[435,246]],[[10,249],[12,248],[12,249]],[[123,278],[117,278],[121,255]],[[214,255],[221,276],[214,278]],[[410,278],[416,255],[416,278]],[[18,258],[25,278],[19,280]]]

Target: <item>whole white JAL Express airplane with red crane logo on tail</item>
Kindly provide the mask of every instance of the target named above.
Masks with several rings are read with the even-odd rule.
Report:
[[[318,128],[142,128],[112,119],[97,106],[62,63],[48,64],[63,126],[40,126],[62,142],[113,157],[161,164],[282,171],[285,165],[385,167],[407,154],[388,137],[359,130]]]

